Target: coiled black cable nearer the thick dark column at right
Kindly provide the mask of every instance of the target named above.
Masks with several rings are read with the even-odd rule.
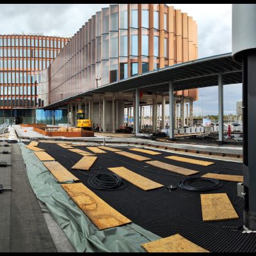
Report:
[[[212,182],[213,185],[210,185],[210,186],[205,186],[205,187],[200,187],[200,186],[191,186],[191,184],[193,182],[196,182],[196,181],[209,181],[209,182]],[[189,191],[207,191],[207,190],[214,190],[214,189],[218,189],[218,188],[221,188],[222,186],[222,182],[221,180],[216,180],[216,179],[209,179],[209,178],[193,178],[193,177],[189,177],[187,179],[184,179],[184,180],[181,180],[179,182],[179,187],[181,189],[186,189],[186,190],[189,190]]]

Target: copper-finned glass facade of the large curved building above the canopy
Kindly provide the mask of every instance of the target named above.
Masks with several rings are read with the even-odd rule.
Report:
[[[195,60],[197,52],[197,25],[187,13],[166,4],[113,4],[93,15],[40,72],[40,97],[46,106],[97,86]],[[176,94],[198,98],[197,89]]]

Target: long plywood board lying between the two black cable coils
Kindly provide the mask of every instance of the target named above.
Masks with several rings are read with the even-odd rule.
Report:
[[[143,190],[161,188],[164,186],[162,184],[154,182],[153,180],[147,179],[139,175],[138,173],[132,172],[131,170],[125,168],[124,166],[108,168],[108,170],[110,170],[113,173],[116,173],[123,179],[128,180],[129,182]]]

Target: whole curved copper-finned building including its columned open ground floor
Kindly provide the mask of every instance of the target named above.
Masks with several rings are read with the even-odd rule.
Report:
[[[196,58],[197,26],[187,13],[166,4],[113,4],[93,15],[70,38],[49,68],[40,72],[38,106],[49,109],[54,104],[56,108],[56,102],[62,102],[58,107],[68,108],[68,122],[74,125],[75,113],[82,108],[95,126],[103,122],[104,131],[115,131],[124,124],[124,108],[129,116],[133,109],[134,116],[134,93],[122,92],[120,88],[122,93],[113,95],[106,89],[106,93],[99,95],[90,93],[93,88]],[[84,92],[88,92],[88,97],[79,97]],[[74,95],[76,100],[68,100]],[[157,125],[157,104],[163,98],[157,93],[141,95],[141,106],[152,105],[153,130]],[[193,100],[197,99],[197,89],[175,92],[182,126],[188,120],[184,115],[186,103],[189,102],[192,120]],[[106,100],[105,110],[112,113],[116,108],[115,116],[120,119],[113,120],[109,115],[106,122],[101,120],[102,100]]]

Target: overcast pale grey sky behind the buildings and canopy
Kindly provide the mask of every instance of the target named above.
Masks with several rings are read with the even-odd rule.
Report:
[[[232,4],[172,4],[198,24],[198,58],[231,52]],[[72,36],[84,22],[109,4],[0,4],[0,34],[43,33]],[[200,88],[204,114],[218,113],[218,88]],[[224,113],[236,113],[241,84],[224,86]],[[194,113],[202,113],[202,96]]]

